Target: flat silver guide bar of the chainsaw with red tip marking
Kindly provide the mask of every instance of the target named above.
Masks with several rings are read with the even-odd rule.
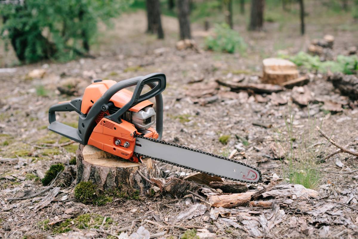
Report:
[[[248,164],[224,156],[204,152],[200,149],[192,149],[179,144],[165,142],[163,140],[147,138],[141,135],[135,135],[135,138],[136,146],[134,148],[134,153],[137,154],[137,157],[148,157],[174,166],[233,181],[245,183],[257,183],[258,181],[261,181],[261,171]],[[163,145],[166,146],[163,147]],[[160,150],[158,150],[158,146]],[[162,156],[162,158],[160,158],[160,156]],[[163,158],[171,159],[172,161]],[[210,162],[210,160],[214,161]],[[203,170],[204,168],[209,169],[207,169],[208,171],[205,171]],[[226,171],[225,175],[232,175],[232,177],[219,174],[218,172],[221,171]]]

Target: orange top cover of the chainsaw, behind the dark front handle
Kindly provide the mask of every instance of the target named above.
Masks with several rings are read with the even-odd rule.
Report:
[[[92,83],[91,85],[86,87],[86,90],[84,90],[84,94],[82,97],[82,105],[81,105],[81,112],[83,114],[87,114],[89,109],[91,109],[92,105],[95,104],[95,102],[103,95],[105,92],[115,83],[116,81],[112,80],[105,80],[101,82]],[[110,101],[113,102],[113,104],[116,107],[123,107],[127,102],[130,101],[132,98],[133,92],[122,89],[118,91],[116,94],[114,94]],[[153,103],[149,100],[145,100],[140,102],[139,104],[133,106],[131,111],[138,112],[139,110],[143,109],[146,106],[153,106]]]

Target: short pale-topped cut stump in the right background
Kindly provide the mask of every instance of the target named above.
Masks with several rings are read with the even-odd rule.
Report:
[[[286,81],[298,78],[295,63],[281,58],[266,58],[262,61],[262,83],[280,85]]]

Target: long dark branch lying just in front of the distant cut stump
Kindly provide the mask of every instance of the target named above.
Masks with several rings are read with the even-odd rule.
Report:
[[[234,92],[239,92],[241,90],[251,90],[255,93],[272,93],[272,92],[279,92],[283,91],[284,88],[279,85],[272,85],[272,84],[260,84],[260,83],[236,83],[236,82],[226,82],[221,80],[216,80],[219,85],[230,87],[230,89]]]

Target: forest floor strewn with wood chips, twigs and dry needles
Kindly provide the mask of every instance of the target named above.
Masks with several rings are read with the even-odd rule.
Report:
[[[314,188],[318,197],[291,198],[290,202],[278,204],[282,210],[280,220],[273,221],[267,228],[258,222],[266,217],[271,223],[268,215],[276,209],[238,207],[229,210],[230,217],[222,214],[216,220],[204,220],[211,212],[208,210],[203,215],[176,222],[179,228],[167,226],[176,221],[180,212],[197,202],[194,197],[143,196],[139,200],[114,200],[103,206],[93,206],[76,201],[73,193],[75,185],[71,185],[62,187],[55,199],[39,210],[35,210],[34,206],[47,193],[28,200],[5,201],[8,197],[41,190],[37,171],[45,172],[54,163],[68,165],[69,160],[75,157],[77,143],[63,147],[38,147],[68,142],[66,138],[47,130],[49,107],[74,97],[59,94],[58,85],[62,82],[78,82],[77,91],[81,96],[84,87],[93,79],[120,81],[153,72],[163,72],[167,77],[167,87],[163,92],[163,140],[225,156],[236,149],[234,159],[257,166],[263,174],[263,182],[252,185],[251,189],[281,182],[282,167],[275,151],[273,130],[253,123],[259,121],[264,125],[276,125],[284,131],[284,116],[289,117],[289,103],[278,105],[270,95],[265,94],[261,97],[252,92],[231,94],[227,87],[222,86],[215,91],[214,94],[219,97],[214,102],[195,104],[200,99],[189,96],[194,91],[200,92],[205,85],[217,79],[235,80],[245,77],[247,82],[258,83],[262,58],[274,56],[277,44],[279,48],[295,53],[306,49],[311,35],[320,34],[319,37],[322,37],[330,33],[335,36],[333,51],[340,54],[356,44],[358,34],[339,29],[331,33],[328,27],[318,31],[316,28],[319,26],[308,26],[309,34],[306,37],[300,37],[298,30],[297,34],[287,32],[277,37],[270,31],[275,28],[274,24],[268,24],[267,30],[262,33],[243,34],[244,27],[237,29],[249,44],[246,56],[177,51],[176,19],[164,17],[166,38],[157,40],[155,36],[143,34],[145,14],[138,11],[121,16],[114,29],[103,31],[100,44],[93,50],[96,56],[93,59],[82,58],[63,64],[44,62],[18,66],[13,73],[0,73],[0,238],[103,238],[108,235],[102,229],[90,230],[84,225],[71,227],[71,231],[63,234],[54,230],[56,224],[66,219],[76,221],[77,216],[83,214],[92,218],[87,222],[89,225],[98,224],[107,233],[118,234],[120,228],[132,226],[128,231],[131,234],[142,225],[151,235],[165,230],[165,235],[162,235],[164,238],[170,235],[179,237],[188,228],[198,231],[207,229],[203,233],[216,238],[356,238],[358,171],[344,172],[354,171],[358,166],[357,157],[347,153],[336,154],[321,164],[325,172],[322,172],[320,183]],[[206,34],[201,26],[193,25],[194,39],[199,47]],[[285,40],[278,43],[277,38]],[[281,44],[286,45],[283,47]],[[6,54],[8,56],[11,52]],[[29,77],[29,72],[34,69],[43,69],[45,74],[42,77]],[[202,82],[198,85],[190,83],[199,80]],[[291,112],[294,113],[293,130],[297,138],[310,128],[310,116],[310,119],[317,119],[317,125],[322,122],[322,130],[328,135],[332,134],[335,142],[357,152],[357,102],[341,96],[332,83],[326,81],[326,76],[321,74],[311,73],[308,89],[313,94],[310,112],[307,107],[291,104]],[[291,101],[292,90],[277,94]],[[343,106],[342,111],[331,113],[325,110],[322,104],[325,100],[339,103]],[[60,114],[59,119],[77,126],[76,114]],[[219,142],[222,135],[230,135],[227,144]],[[326,142],[316,131],[313,140],[313,143],[322,140]],[[335,146],[327,144],[324,155],[335,150]],[[283,167],[286,167],[283,163]],[[172,169],[170,173],[170,167],[160,165],[168,176],[183,175],[179,168]],[[257,224],[245,225],[244,221],[250,220],[240,217],[247,217]],[[150,223],[153,221],[154,224]],[[257,228],[257,231],[250,228]]]

